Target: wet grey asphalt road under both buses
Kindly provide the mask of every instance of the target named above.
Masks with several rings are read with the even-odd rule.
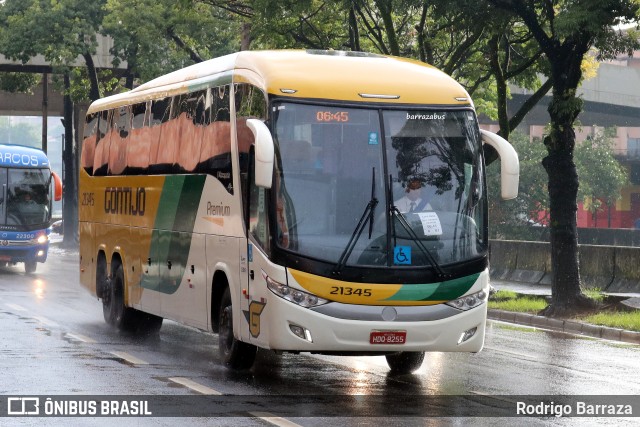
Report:
[[[478,354],[428,354],[413,375],[392,376],[383,357],[330,357],[260,352],[245,373],[224,368],[217,337],[165,321],[146,340],[118,333],[100,301],[78,284],[77,254],[52,248],[34,275],[21,265],[0,269],[0,396],[6,395],[242,395],[405,397],[441,395],[640,395],[640,346],[489,322]],[[394,400],[395,402],[395,400]],[[340,404],[340,405],[339,405]],[[357,402],[354,403],[357,405]],[[636,408],[637,409],[637,408]],[[355,410],[355,409],[354,409]],[[390,409],[391,410],[391,409]],[[138,418],[127,425],[459,425],[457,418]],[[7,418],[0,418],[5,425]],[[630,418],[582,419],[582,425],[631,425]],[[8,425],[42,425],[12,418]],[[80,421],[76,419],[75,421]],[[82,425],[114,419],[83,418]],[[133,422],[132,422],[133,421]],[[497,420],[475,418],[474,424]],[[504,425],[516,419],[502,419]],[[527,418],[528,425],[572,425],[577,419]],[[501,424],[502,424],[501,423]],[[520,424],[521,422],[518,422]],[[49,418],[47,425],[68,425]],[[75,424],[75,423],[73,423]]]

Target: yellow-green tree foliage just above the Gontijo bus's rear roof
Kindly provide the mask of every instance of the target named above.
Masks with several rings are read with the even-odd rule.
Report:
[[[148,81],[237,50],[239,24],[231,13],[197,1],[107,0],[102,31],[113,39],[116,63],[129,79]]]

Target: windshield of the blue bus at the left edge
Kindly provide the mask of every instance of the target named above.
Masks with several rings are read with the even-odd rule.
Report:
[[[42,228],[50,220],[49,169],[0,169],[0,225]]]

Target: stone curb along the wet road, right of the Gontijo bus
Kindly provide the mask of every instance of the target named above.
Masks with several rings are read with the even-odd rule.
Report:
[[[624,329],[597,326],[575,320],[553,319],[528,313],[490,309],[487,317],[492,320],[516,323],[534,328],[549,329],[574,335],[584,335],[611,341],[621,341],[630,344],[640,344],[640,332],[625,331]]]

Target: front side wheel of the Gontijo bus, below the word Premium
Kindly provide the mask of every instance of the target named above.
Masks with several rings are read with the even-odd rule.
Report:
[[[256,358],[257,348],[254,345],[238,341],[233,336],[233,306],[231,292],[225,289],[218,313],[218,348],[225,365],[233,369],[249,369]]]

